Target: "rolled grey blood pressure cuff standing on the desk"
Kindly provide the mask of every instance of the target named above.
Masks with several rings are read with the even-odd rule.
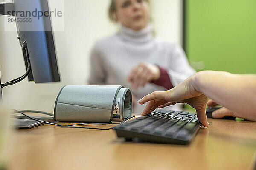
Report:
[[[60,122],[124,121],[131,113],[132,96],[128,88],[67,85],[57,96],[54,119]]]

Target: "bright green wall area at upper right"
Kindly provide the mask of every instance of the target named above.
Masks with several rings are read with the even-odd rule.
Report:
[[[256,74],[256,0],[186,0],[185,22],[190,62]]]

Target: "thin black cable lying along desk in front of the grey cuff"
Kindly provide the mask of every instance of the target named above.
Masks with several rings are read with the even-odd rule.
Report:
[[[16,110],[15,110],[16,111]],[[116,125],[114,127],[110,127],[110,128],[106,128],[106,129],[102,129],[102,128],[93,128],[93,127],[72,127],[72,126],[76,126],[76,125],[86,125],[86,124],[102,124],[102,123],[78,123],[78,124],[72,124],[72,125],[58,125],[56,123],[50,123],[50,122],[45,122],[45,121],[41,121],[41,120],[38,120],[38,119],[35,119],[33,117],[30,117],[20,111],[17,111],[17,113],[21,113],[23,114],[24,116],[28,117],[29,119],[32,119],[32,120],[35,120],[37,122],[41,122],[41,123],[45,123],[45,124],[49,124],[49,125],[55,125],[55,126],[59,126],[59,127],[67,127],[67,128],[80,128],[80,129],[94,129],[94,130],[111,130],[111,129],[114,129],[115,127],[119,126],[119,125],[122,125],[124,122],[126,122],[127,120],[131,119],[131,118],[134,118],[134,117],[140,117],[140,116],[131,116],[129,117],[128,119],[126,119],[125,121],[123,121],[122,123],[120,123],[119,125]],[[103,125],[107,125],[107,124],[112,124],[112,123],[103,123]]]

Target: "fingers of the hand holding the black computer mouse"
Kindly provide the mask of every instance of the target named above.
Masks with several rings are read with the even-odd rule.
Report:
[[[214,102],[213,100],[209,100],[209,102],[207,103],[207,106],[209,106],[209,107],[214,107],[217,105],[218,105],[218,103]],[[223,118],[224,116],[239,117],[236,112],[231,111],[227,108],[221,108],[221,109],[218,109],[218,110],[212,112],[213,118]]]

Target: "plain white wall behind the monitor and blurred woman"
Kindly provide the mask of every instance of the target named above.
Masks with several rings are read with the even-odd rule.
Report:
[[[0,0],[9,2],[10,0]],[[51,0],[49,0],[51,2]],[[54,32],[61,82],[34,84],[27,79],[3,88],[3,104],[15,109],[53,111],[55,98],[64,85],[84,85],[88,77],[89,53],[94,42],[117,29],[108,20],[110,0],[65,0],[65,29]],[[156,36],[181,44],[182,1],[151,0]],[[50,8],[55,8],[51,6]],[[5,31],[0,16],[0,71],[2,83],[25,72],[17,32]],[[53,28],[58,24],[52,20]],[[13,23],[15,28],[15,23]]]

